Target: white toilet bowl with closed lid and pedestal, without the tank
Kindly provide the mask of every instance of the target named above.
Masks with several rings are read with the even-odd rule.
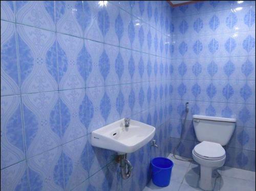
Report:
[[[203,141],[192,151],[193,159],[200,164],[199,186],[204,190],[212,190],[212,171],[225,163],[226,153],[223,147],[215,142]]]

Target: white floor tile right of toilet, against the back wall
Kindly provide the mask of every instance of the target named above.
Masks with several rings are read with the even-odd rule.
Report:
[[[255,172],[236,169],[229,166],[223,166],[223,168],[221,168],[221,175],[255,182]]]

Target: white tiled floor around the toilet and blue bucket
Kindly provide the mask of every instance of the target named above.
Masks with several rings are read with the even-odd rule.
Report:
[[[173,158],[173,154],[168,156],[174,162],[170,185],[167,187],[158,187],[151,181],[145,190],[179,190],[195,191],[202,190],[199,188],[200,165],[195,161],[186,162]],[[214,191],[255,191],[255,172],[245,171],[242,169],[230,168],[223,166],[218,169],[220,177],[213,179],[215,181]]]

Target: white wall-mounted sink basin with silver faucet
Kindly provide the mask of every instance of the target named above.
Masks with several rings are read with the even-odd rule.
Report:
[[[135,120],[124,127],[124,118],[92,132],[92,146],[109,149],[118,154],[132,153],[146,145],[155,135],[156,128]]]

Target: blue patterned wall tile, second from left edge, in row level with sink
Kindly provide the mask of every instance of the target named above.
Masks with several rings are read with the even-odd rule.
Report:
[[[28,157],[61,144],[58,92],[22,96]]]

